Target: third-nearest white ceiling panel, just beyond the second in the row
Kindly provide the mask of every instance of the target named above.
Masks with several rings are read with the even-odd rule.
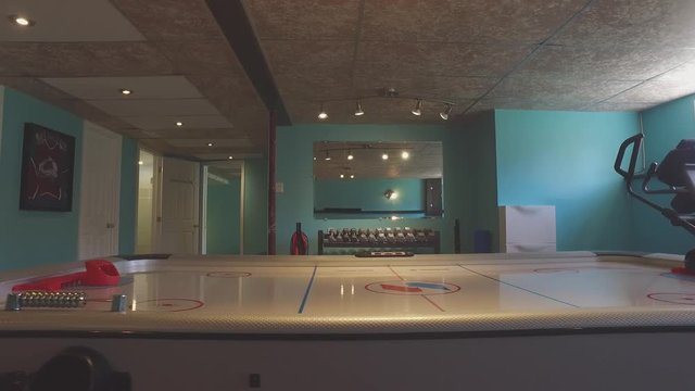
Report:
[[[88,100],[87,102],[118,117],[219,114],[217,109],[205,99],[110,99]]]

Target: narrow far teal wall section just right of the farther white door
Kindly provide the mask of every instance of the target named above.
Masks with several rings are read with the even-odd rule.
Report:
[[[241,179],[207,180],[207,253],[239,254]]]

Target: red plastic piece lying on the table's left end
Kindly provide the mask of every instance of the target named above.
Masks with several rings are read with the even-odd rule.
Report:
[[[108,287],[118,285],[121,274],[109,261],[85,261],[86,272],[72,273],[64,276],[48,277],[37,281],[20,283],[12,287],[13,292],[25,290],[55,291],[74,286]]]

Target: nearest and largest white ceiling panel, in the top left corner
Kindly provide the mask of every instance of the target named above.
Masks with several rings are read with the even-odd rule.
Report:
[[[108,0],[2,0],[0,41],[89,42],[138,41],[144,37]],[[35,22],[21,27],[9,15]]]

